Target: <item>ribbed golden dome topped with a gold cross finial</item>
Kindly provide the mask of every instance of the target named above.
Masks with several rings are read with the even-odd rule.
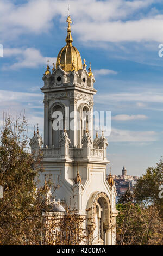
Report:
[[[56,65],[60,65],[61,69],[65,72],[83,69],[82,66],[82,58],[80,56],[79,51],[76,47],[72,45],[73,39],[71,36],[71,26],[72,23],[71,17],[68,16],[67,18],[68,28],[67,28],[67,37],[66,37],[66,46],[63,47],[58,56],[57,56],[57,63]]]

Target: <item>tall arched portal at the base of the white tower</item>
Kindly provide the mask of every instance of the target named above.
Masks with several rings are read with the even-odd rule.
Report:
[[[106,193],[96,191],[87,202],[87,236],[89,245],[110,244],[110,200]]]

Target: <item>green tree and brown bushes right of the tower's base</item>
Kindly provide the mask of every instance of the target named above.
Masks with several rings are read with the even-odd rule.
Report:
[[[118,200],[116,239],[118,245],[162,245],[162,159],[155,168],[149,167],[136,184],[134,193],[129,188]]]

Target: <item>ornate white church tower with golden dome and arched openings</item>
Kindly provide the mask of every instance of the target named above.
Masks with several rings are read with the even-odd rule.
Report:
[[[40,174],[41,185],[45,175],[54,182],[60,176],[55,200],[75,206],[80,215],[89,218],[85,228],[94,245],[114,245],[116,188],[111,174],[106,180],[108,142],[103,132],[101,137],[96,133],[93,140],[95,78],[91,66],[87,71],[85,60],[82,64],[79,51],[72,45],[70,16],[67,22],[66,46],[58,54],[56,69],[53,64],[51,72],[47,65],[42,78],[44,139],[42,142],[37,131],[30,146],[35,154],[39,148],[43,151],[45,172]],[[85,117],[85,112],[89,112],[89,117]],[[62,125],[56,130],[59,113],[62,113]]]

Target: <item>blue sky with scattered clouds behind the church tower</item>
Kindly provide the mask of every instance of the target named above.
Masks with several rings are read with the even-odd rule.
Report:
[[[95,75],[95,110],[111,111],[108,159],[112,173],[142,175],[162,155],[163,3],[160,0],[0,0],[0,120],[26,110],[29,134],[43,134],[47,59],[65,45],[67,5],[73,45]]]

